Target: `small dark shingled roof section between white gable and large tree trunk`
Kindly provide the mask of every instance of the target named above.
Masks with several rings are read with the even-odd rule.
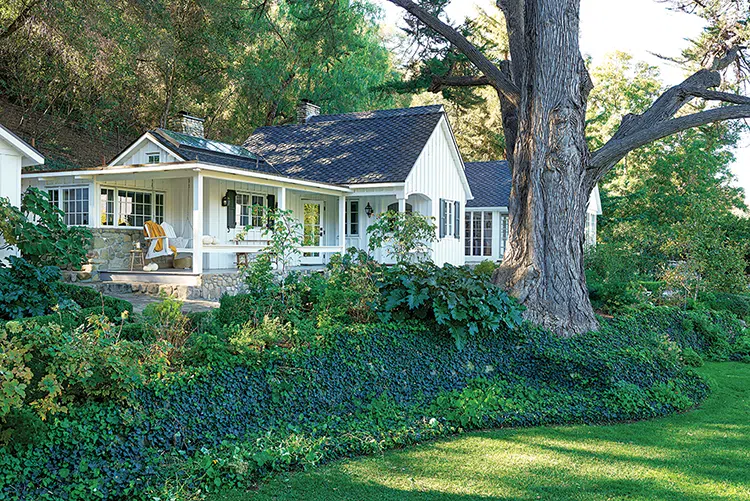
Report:
[[[467,162],[466,178],[469,180],[473,200],[466,207],[507,207],[510,199],[510,166],[505,160],[492,162]]]

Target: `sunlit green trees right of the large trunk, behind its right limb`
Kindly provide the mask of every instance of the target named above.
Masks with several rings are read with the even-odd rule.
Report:
[[[654,67],[622,53],[592,76],[587,133],[594,147],[663,89]],[[619,289],[632,302],[643,280],[664,281],[683,305],[707,291],[747,292],[748,223],[736,215],[744,203],[730,169],[738,132],[732,124],[688,130],[631,152],[607,175],[599,248],[587,263],[595,300],[616,301]]]

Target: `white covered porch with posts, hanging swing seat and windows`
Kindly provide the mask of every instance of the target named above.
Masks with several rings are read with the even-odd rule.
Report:
[[[186,275],[236,270],[238,260],[267,246],[262,211],[273,208],[292,211],[302,225],[302,254],[294,265],[320,266],[345,250],[347,188],[201,164],[123,171],[127,169],[91,176],[95,225],[134,230],[152,220],[172,226],[177,238],[169,245],[178,256],[191,256],[192,267],[171,270],[161,260],[166,264],[160,266],[162,279],[191,281]],[[102,271],[114,278],[124,270]]]

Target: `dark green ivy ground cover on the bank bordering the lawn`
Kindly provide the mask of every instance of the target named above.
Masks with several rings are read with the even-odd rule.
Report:
[[[681,315],[650,318],[669,318],[675,339],[703,335],[682,328]],[[683,368],[679,344],[638,318],[572,340],[528,326],[481,332],[462,351],[418,324],[341,326],[304,349],[243,352],[217,339],[218,358],[195,365],[194,345],[221,332],[211,317],[194,317],[202,327],[184,350],[185,370],[150,372],[151,382],[119,404],[84,387],[65,418],[19,431],[23,440],[0,455],[0,492],[22,500],[88,499],[94,490],[105,499],[187,496],[466,429],[664,415],[708,392]]]

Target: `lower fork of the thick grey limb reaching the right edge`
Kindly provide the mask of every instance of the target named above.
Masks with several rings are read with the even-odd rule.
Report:
[[[724,106],[658,122],[621,139],[612,139],[591,156],[590,169],[603,169],[619,162],[628,152],[683,130],[723,120],[750,118],[750,104]]]

